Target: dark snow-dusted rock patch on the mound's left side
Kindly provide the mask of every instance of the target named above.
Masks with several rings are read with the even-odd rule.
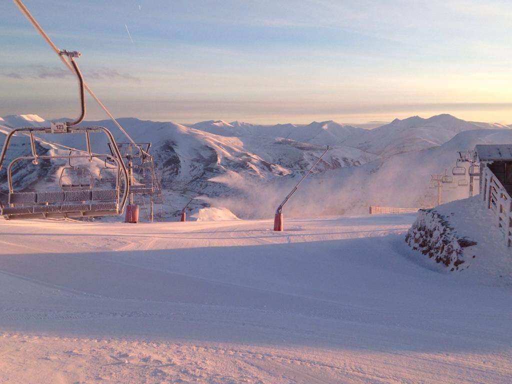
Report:
[[[421,209],[409,229],[406,242],[416,251],[442,263],[451,271],[459,270],[464,263],[463,248],[476,242],[459,238],[457,231],[435,209]]]

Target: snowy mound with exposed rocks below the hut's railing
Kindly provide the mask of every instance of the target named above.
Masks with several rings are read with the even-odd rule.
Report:
[[[479,195],[419,211],[406,242],[420,261],[438,263],[439,271],[463,271],[464,278],[486,284],[512,284],[512,250]]]

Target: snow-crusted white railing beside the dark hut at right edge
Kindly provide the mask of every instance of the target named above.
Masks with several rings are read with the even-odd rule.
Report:
[[[485,207],[492,210],[496,217],[496,225],[503,233],[505,245],[512,245],[512,198],[488,167],[482,169],[480,194]]]

